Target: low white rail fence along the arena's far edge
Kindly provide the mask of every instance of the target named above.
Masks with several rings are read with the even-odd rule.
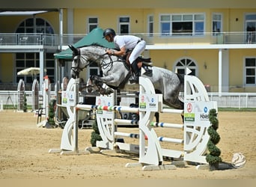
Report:
[[[27,104],[32,104],[31,91],[25,91],[27,94]],[[9,99],[8,99],[8,96]],[[55,92],[51,92],[55,96]],[[208,93],[209,99],[217,101],[219,108],[256,108],[256,93]],[[0,91],[0,102],[4,105],[17,105],[17,91]],[[11,100],[10,100],[11,99]]]

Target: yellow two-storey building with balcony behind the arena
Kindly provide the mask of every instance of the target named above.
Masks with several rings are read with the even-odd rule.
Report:
[[[52,82],[61,82],[70,76],[71,65],[59,66],[53,54],[96,27],[142,37],[147,42],[144,56],[154,66],[178,73],[189,67],[212,92],[256,92],[253,0],[4,1],[1,82],[31,82],[30,76],[16,75],[25,67],[40,67],[40,84],[46,73]]]

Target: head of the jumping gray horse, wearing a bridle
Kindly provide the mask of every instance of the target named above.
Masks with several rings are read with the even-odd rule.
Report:
[[[90,61],[88,61],[86,55],[81,55],[79,48],[75,48],[74,46],[70,45],[69,47],[73,52],[70,77],[76,79],[79,78],[80,71],[82,71],[85,67],[87,67],[90,64]]]

